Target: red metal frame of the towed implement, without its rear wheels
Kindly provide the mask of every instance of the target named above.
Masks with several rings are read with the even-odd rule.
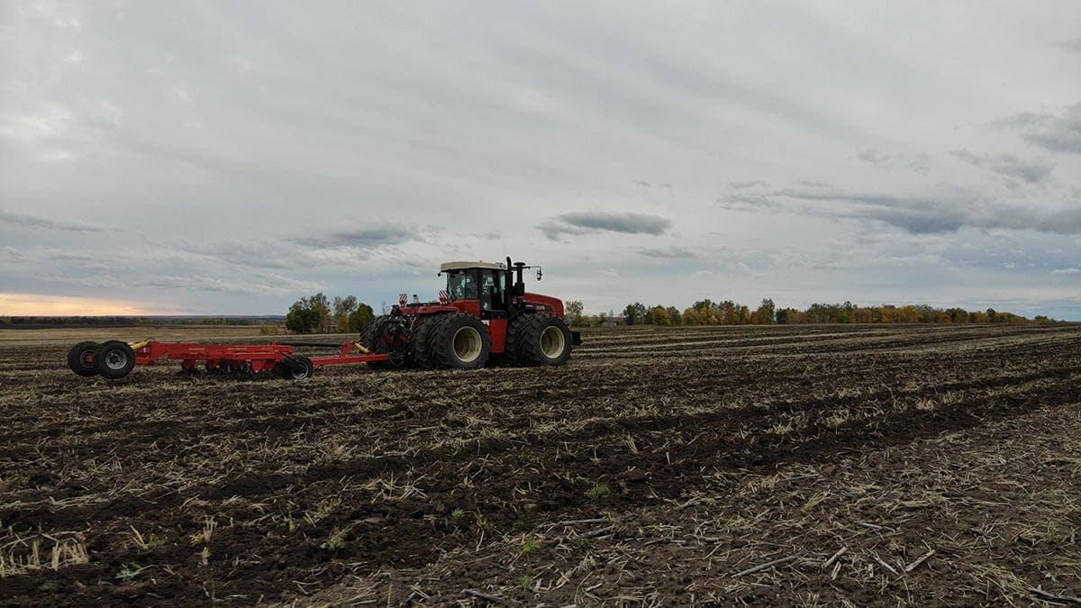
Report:
[[[192,342],[157,342],[154,340],[141,342],[135,348],[135,365],[152,366],[162,359],[181,361],[181,367],[187,370],[195,368],[199,361],[205,361],[206,368],[214,370],[227,366],[227,369],[239,370],[248,368],[254,373],[269,370],[280,361],[294,354],[294,347],[289,344],[196,344]],[[386,353],[358,353],[359,345],[346,342],[337,356],[311,357],[313,366],[338,366],[348,364],[371,364],[386,361],[390,355]]]

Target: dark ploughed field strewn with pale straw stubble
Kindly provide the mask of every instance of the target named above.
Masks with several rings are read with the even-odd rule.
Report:
[[[271,339],[0,330],[5,603],[1081,595],[1081,326],[605,328],[565,368],[302,382],[65,367],[149,336]]]

